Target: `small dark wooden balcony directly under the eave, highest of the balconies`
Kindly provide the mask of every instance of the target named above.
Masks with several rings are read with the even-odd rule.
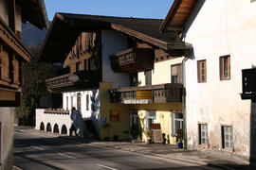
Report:
[[[129,48],[110,56],[115,72],[139,72],[154,67],[155,52],[152,48]]]

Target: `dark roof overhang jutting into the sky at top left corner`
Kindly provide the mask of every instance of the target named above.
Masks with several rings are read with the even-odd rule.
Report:
[[[48,18],[44,0],[16,0],[21,5],[22,21],[43,29],[48,27]]]

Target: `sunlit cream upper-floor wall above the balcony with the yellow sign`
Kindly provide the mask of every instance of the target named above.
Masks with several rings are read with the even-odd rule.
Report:
[[[184,58],[175,58],[154,63],[154,69],[152,70],[152,85],[172,83],[171,65],[181,63],[182,59]],[[137,78],[138,82],[140,82],[139,86],[145,86],[144,72],[139,72]]]

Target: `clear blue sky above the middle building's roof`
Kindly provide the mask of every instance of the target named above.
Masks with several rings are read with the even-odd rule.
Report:
[[[55,12],[164,19],[173,0],[45,0],[45,3],[49,21]]]

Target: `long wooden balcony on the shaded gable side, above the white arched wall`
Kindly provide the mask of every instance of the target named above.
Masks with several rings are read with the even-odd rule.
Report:
[[[50,92],[64,92],[81,88],[95,88],[99,86],[100,81],[101,76],[98,72],[79,71],[46,79],[46,87]]]

